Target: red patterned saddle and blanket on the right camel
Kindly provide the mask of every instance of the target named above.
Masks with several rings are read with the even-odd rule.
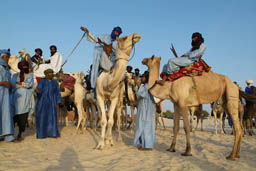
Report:
[[[211,67],[209,67],[202,58],[200,57],[198,58],[199,58],[198,62],[194,62],[186,67],[181,67],[178,72],[175,72],[173,74],[167,74],[166,72],[162,72],[160,74],[160,77],[163,78],[165,75],[167,75],[168,81],[174,81],[174,80],[177,80],[178,78],[187,76],[192,73],[194,76],[200,76],[202,75],[203,72],[210,71]]]

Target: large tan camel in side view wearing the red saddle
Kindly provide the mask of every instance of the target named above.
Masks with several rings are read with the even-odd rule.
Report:
[[[150,77],[158,77],[160,59],[161,58],[154,56],[143,59],[142,64],[148,66]],[[196,91],[194,82],[196,83],[196,89],[200,91]],[[151,80],[151,84],[154,85],[149,91],[153,96],[160,99],[169,99],[174,104],[174,136],[172,144],[168,149],[169,152],[175,152],[176,138],[179,131],[179,120],[180,116],[183,116],[187,143],[186,150],[182,155],[192,155],[188,107],[198,104],[209,104],[224,96],[225,104],[232,117],[235,129],[233,149],[227,159],[235,160],[235,158],[240,157],[242,130],[238,118],[239,89],[228,77],[209,71],[203,72],[201,76],[186,76],[173,82],[166,81],[163,86],[155,84],[155,80]]]

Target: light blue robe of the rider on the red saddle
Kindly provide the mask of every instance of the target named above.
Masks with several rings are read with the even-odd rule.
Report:
[[[202,57],[204,54],[204,51],[206,49],[206,46],[204,43],[202,43],[199,47],[199,49],[196,49],[194,51],[189,51],[188,57],[179,57],[179,58],[171,58],[168,61],[168,65],[164,66],[163,71],[167,71],[167,74],[173,74],[175,72],[178,72],[180,67],[186,67],[193,62],[198,61],[198,56]]]

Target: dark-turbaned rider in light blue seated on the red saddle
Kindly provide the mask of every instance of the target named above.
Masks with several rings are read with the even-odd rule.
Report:
[[[157,81],[158,84],[163,85],[167,80],[168,74],[178,72],[180,67],[186,67],[194,62],[198,62],[206,50],[203,36],[195,32],[192,34],[192,48],[189,52],[183,54],[181,57],[171,58],[168,63],[163,66],[163,80]],[[172,51],[174,49],[172,48]]]

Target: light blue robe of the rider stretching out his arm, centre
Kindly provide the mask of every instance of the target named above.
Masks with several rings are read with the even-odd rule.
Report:
[[[106,44],[113,43],[112,54],[109,57],[107,56],[107,54],[104,51],[104,46],[96,43],[98,41],[98,38],[100,38],[101,41],[105,42]],[[96,80],[100,74],[100,72],[99,72],[100,69],[102,69],[104,71],[110,71],[110,69],[115,64],[116,41],[112,42],[110,35],[105,34],[105,35],[96,36],[90,32],[87,34],[87,40],[89,42],[95,43],[90,81],[91,81],[92,88],[96,88]]]

